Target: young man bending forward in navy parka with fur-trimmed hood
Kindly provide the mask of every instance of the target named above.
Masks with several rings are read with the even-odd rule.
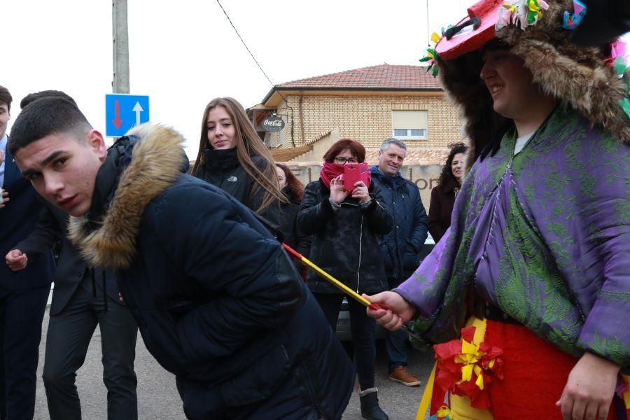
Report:
[[[143,125],[106,151],[76,106],[39,99],[9,147],[115,269],[148,351],[190,419],[339,419],[354,372],[281,245],[242,204],[181,173],[183,138]],[[191,205],[192,204],[192,205]]]

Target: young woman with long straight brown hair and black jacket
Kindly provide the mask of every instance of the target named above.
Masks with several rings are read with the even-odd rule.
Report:
[[[285,199],[274,161],[236,99],[215,98],[206,106],[192,174],[265,218],[272,233],[279,227]]]

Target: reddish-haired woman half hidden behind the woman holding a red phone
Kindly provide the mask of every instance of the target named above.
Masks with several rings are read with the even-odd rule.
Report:
[[[311,248],[311,237],[310,235],[304,235],[297,227],[297,211],[300,210],[302,197],[304,197],[304,184],[283,163],[276,163],[276,173],[278,174],[278,183],[281,191],[286,197],[286,202],[281,204],[279,226],[283,235],[283,242],[308,258]],[[306,279],[306,267],[301,262],[294,261],[298,271],[302,274],[302,278]]]

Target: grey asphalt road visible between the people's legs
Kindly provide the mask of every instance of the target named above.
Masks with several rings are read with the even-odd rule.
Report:
[[[35,419],[48,419],[45,391],[41,379],[43,354],[45,349],[46,330],[48,330],[48,310],[42,325],[42,339],[39,348],[39,367]],[[136,347],[136,373],[138,376],[138,413],[144,420],[184,420],[186,417],[181,408],[181,400],[175,387],[172,374],[162,369],[146,350],[142,339],[138,337]],[[426,383],[433,366],[433,354],[424,351],[409,350],[410,370]],[[101,363],[101,335],[99,329],[94,331],[90,348],[87,351],[85,364],[77,373],[76,385],[81,399],[83,419],[107,419],[107,390],[103,385],[103,367]],[[414,419],[423,386],[407,387],[387,379],[387,357],[383,342],[377,346],[377,379],[381,407],[391,420]],[[344,420],[360,420],[359,398],[356,393],[351,396]],[[121,419],[124,420],[124,419]],[[272,419],[269,419],[272,420]]]

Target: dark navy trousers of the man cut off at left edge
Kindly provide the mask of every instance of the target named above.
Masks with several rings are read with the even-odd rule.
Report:
[[[0,419],[33,419],[41,321],[49,292],[50,284],[0,288]]]

